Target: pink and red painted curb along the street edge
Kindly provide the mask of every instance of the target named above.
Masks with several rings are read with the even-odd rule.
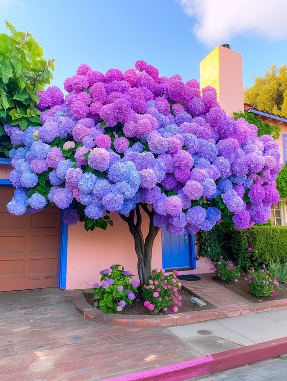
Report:
[[[286,352],[287,337],[284,337],[104,381],[180,381],[267,360]]]

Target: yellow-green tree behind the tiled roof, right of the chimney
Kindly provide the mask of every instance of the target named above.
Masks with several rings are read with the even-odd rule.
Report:
[[[272,65],[262,77],[255,76],[254,84],[245,89],[244,100],[261,110],[287,115],[287,66]]]

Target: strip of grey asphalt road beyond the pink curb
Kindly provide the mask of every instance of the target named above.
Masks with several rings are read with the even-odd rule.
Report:
[[[191,378],[190,381],[287,381],[287,359],[272,359],[252,365],[226,370],[210,376]]]

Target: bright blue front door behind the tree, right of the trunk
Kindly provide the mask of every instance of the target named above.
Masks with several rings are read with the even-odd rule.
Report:
[[[196,268],[194,235],[170,234],[162,228],[163,268]]]

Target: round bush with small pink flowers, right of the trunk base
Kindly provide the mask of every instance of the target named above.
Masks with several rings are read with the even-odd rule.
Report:
[[[156,315],[160,311],[177,312],[181,307],[182,297],[179,295],[181,283],[176,276],[177,271],[167,275],[163,268],[160,271],[152,270],[147,284],[142,288],[144,306],[151,315]]]

